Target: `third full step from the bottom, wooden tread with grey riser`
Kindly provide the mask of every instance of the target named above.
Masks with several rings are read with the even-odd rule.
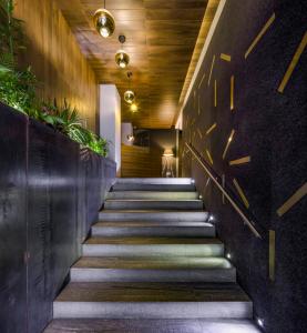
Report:
[[[206,238],[91,238],[84,256],[223,256],[224,244]]]

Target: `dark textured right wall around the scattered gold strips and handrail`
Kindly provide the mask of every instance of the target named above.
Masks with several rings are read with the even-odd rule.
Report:
[[[273,13],[275,20],[245,59]],[[233,179],[238,181],[249,203],[248,213],[263,235],[263,240],[256,239],[229,203],[222,203],[221,193],[212,182],[207,184],[204,171],[185,151],[184,175],[195,178],[207,209],[216,216],[239,283],[254,302],[255,316],[264,320],[265,332],[274,333],[307,332],[306,196],[284,215],[277,214],[306,183],[306,49],[284,92],[278,91],[306,33],[306,1],[227,1],[184,109],[184,142],[192,142],[207,162],[208,150],[214,170],[225,174],[232,195],[243,204]],[[229,54],[231,61],[222,60],[221,53]],[[213,123],[216,128],[206,134]],[[232,130],[235,134],[223,160]],[[229,165],[243,157],[250,157],[250,162]],[[269,230],[276,234],[275,281],[268,269]]]

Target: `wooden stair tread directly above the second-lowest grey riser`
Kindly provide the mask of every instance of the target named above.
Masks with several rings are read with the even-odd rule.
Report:
[[[129,258],[129,256],[83,256],[73,269],[131,269],[131,270],[192,270],[233,269],[225,258]]]

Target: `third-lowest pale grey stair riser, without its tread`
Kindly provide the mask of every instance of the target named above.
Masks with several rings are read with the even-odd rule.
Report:
[[[83,245],[84,256],[223,256],[223,244]]]

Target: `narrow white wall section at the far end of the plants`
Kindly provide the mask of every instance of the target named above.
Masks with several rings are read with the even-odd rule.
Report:
[[[121,169],[121,97],[114,84],[100,84],[100,135],[110,141],[109,158]]]

